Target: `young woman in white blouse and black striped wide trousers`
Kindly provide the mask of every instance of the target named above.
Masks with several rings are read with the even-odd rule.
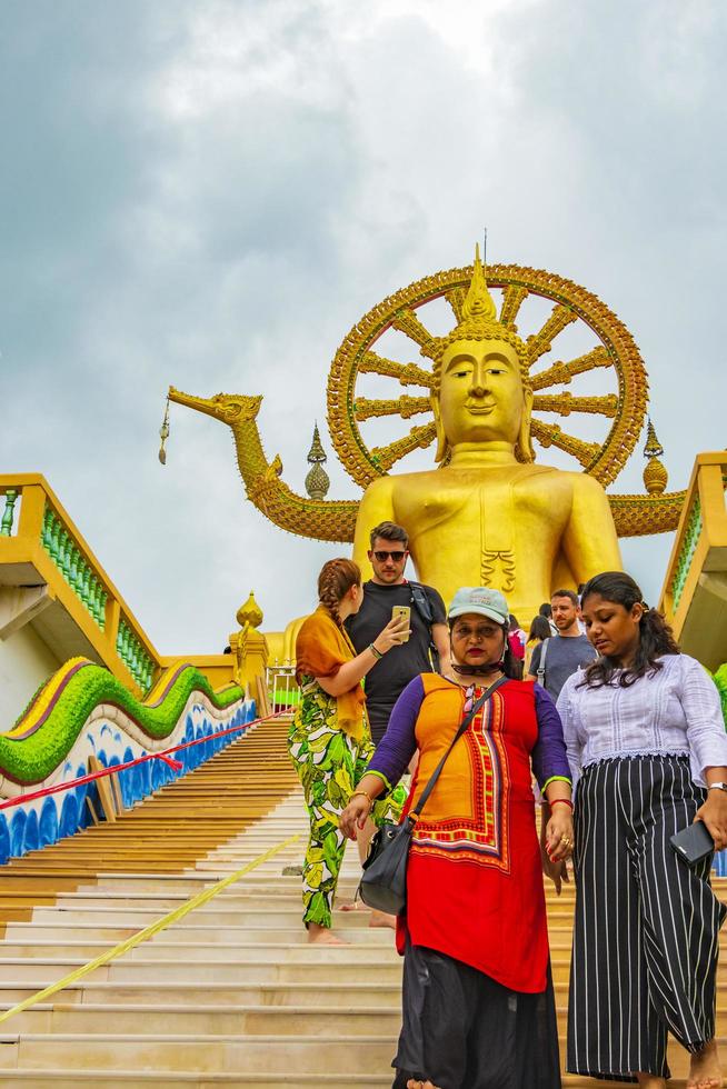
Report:
[[[727,736],[717,689],[619,571],[586,583],[599,652],[562,688],[576,790],[576,919],[568,1070],[665,1089],[667,1031],[691,1052],[688,1089],[721,1086],[715,1042],[719,928],[711,857],[669,845],[701,820],[727,846]]]

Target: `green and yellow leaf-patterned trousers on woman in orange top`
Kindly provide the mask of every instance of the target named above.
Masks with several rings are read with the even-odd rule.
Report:
[[[310,818],[310,840],[302,872],[306,927],[310,922],[331,926],[336,886],[346,849],[346,838],[338,822],[374,756],[368,730],[360,741],[356,741],[332,727],[330,716],[326,713],[330,710],[326,705],[330,702],[321,689],[315,695],[305,695],[288,736],[288,748],[302,783]],[[336,701],[332,703],[335,707]],[[399,783],[387,798],[377,800],[371,813],[375,823],[398,821],[406,798],[406,788]]]

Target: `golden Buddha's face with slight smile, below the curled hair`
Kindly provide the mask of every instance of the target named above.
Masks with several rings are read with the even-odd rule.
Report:
[[[515,446],[525,411],[517,352],[500,340],[459,340],[441,360],[439,414],[450,446]]]

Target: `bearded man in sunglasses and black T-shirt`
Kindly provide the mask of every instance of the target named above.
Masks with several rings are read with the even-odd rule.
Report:
[[[409,582],[404,577],[409,556],[407,532],[394,522],[381,522],[371,530],[368,553],[372,578],[364,583],[364,602],[349,617],[346,628],[357,652],[374,642],[391,619],[395,606],[411,610],[407,642],[392,647],[366,677],[366,705],[374,743],[378,745],[389,723],[391,708],[409,681],[419,673],[431,672],[431,648],[440,667],[449,666],[449,628],[440,595],[430,586]]]

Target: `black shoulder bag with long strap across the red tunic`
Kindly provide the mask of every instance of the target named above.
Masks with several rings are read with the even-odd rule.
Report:
[[[441,769],[455,745],[492,692],[507,679],[507,677],[500,677],[494,685],[490,685],[472,706],[469,713],[465,716],[449,748],[425,787],[416,809],[412,809],[400,825],[385,823],[371,840],[369,857],[364,862],[364,873],[358,887],[358,895],[364,903],[374,908],[375,911],[385,911],[387,915],[400,915],[404,911],[407,902],[407,862],[414,826],[417,823],[429,795],[435,789]]]

